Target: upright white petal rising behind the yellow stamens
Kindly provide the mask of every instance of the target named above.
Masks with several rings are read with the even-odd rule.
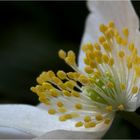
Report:
[[[121,30],[123,27],[130,29],[130,36],[134,37],[136,30],[139,29],[138,17],[129,0],[126,1],[88,1],[90,14],[86,21],[85,31],[81,44],[85,40],[95,42],[100,36],[99,25],[107,24],[108,21],[114,20],[116,26]],[[132,38],[131,38],[132,39]],[[84,54],[80,51],[79,66],[82,69]]]

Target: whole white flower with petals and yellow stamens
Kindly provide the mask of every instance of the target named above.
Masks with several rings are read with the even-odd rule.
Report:
[[[41,73],[31,89],[44,106],[0,105],[0,138],[100,138],[117,110],[139,107],[139,23],[130,1],[88,7],[79,66],[73,51],[59,51],[75,72]]]

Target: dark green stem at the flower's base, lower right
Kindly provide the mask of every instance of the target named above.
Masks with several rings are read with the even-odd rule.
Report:
[[[126,121],[131,123],[133,126],[140,129],[140,115],[136,112],[118,112],[118,114]]]

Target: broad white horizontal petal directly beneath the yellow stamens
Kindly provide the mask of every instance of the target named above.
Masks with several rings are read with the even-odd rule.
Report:
[[[29,105],[0,105],[0,126],[16,128],[34,136],[47,136],[52,130],[92,132],[93,137],[102,137],[109,126],[99,125],[93,129],[75,128],[73,121],[59,122],[57,116]],[[75,133],[77,134],[77,133]]]

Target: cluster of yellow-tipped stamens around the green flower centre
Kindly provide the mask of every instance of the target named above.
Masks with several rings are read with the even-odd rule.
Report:
[[[75,72],[42,72],[31,90],[60,121],[79,118],[76,127],[109,124],[113,112],[129,110],[139,92],[140,57],[129,39],[129,30],[119,34],[114,22],[101,24],[98,42],[82,46],[84,70],[76,64],[73,51],[58,55]]]

